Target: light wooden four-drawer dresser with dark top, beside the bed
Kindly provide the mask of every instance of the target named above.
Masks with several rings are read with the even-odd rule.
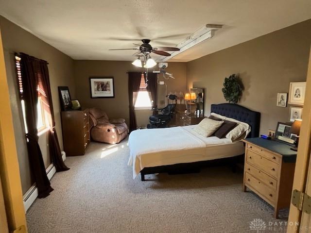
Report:
[[[274,207],[280,209],[291,202],[297,152],[291,146],[262,138],[242,140],[245,145],[243,191],[246,187]]]

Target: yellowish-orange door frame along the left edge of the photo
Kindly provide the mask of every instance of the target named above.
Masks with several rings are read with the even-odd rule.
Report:
[[[27,232],[0,29],[0,177],[10,232]]]

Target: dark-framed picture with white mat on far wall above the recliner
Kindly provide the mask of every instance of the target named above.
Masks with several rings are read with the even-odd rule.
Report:
[[[115,89],[113,77],[90,77],[89,78],[91,98],[114,98]]]

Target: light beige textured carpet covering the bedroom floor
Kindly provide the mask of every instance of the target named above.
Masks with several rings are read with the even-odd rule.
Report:
[[[132,179],[127,140],[91,143],[86,155],[67,157],[69,171],[51,180],[54,191],[27,212],[30,233],[246,233],[249,222],[273,218],[273,208],[242,192],[242,174],[227,167],[197,174]],[[284,225],[284,224],[283,224]],[[259,231],[260,232],[260,231]]]

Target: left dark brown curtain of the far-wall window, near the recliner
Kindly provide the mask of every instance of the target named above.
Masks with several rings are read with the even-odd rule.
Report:
[[[141,73],[128,72],[128,100],[130,108],[130,132],[137,129],[136,116],[135,116],[135,102],[138,97]]]

